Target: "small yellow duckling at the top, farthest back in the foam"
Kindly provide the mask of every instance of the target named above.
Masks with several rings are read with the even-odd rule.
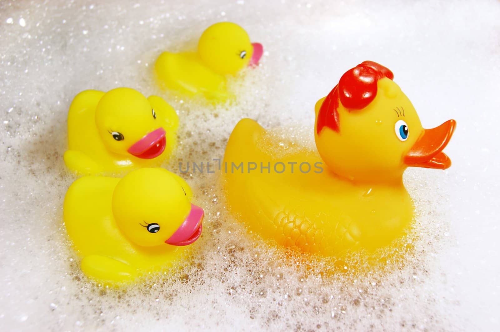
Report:
[[[250,43],[241,26],[219,22],[201,34],[196,52],[163,52],[156,60],[154,70],[163,88],[225,101],[229,97],[225,75],[256,65],[262,53],[262,45]]]

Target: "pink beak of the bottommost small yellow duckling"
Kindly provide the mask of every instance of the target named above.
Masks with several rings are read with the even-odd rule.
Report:
[[[201,225],[203,216],[203,209],[191,204],[191,211],[189,211],[186,219],[165,243],[173,246],[187,246],[196,241],[203,229]]]

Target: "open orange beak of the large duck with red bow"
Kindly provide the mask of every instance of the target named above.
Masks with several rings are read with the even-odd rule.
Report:
[[[404,163],[411,167],[446,169],[451,160],[442,152],[455,130],[456,121],[448,120],[438,127],[423,129],[415,144],[404,156]]]

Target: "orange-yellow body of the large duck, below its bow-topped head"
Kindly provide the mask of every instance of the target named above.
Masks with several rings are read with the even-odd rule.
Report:
[[[271,151],[279,150],[278,143],[250,119],[236,125],[227,143],[226,198],[250,231],[300,251],[331,255],[386,245],[410,223],[413,205],[402,182],[356,184],[333,174],[305,148],[276,158]],[[257,169],[231,172],[231,163],[241,162],[255,162]],[[261,172],[260,162],[270,163],[269,173]],[[304,164],[300,171],[301,163],[310,170]],[[277,172],[285,165],[284,172],[277,173],[276,164]]]

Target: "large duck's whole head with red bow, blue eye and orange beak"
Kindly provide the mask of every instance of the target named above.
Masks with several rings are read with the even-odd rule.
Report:
[[[408,166],[446,169],[456,122],[424,129],[392,72],[364,61],[315,106],[315,142],[334,173],[354,181],[400,181]]]

